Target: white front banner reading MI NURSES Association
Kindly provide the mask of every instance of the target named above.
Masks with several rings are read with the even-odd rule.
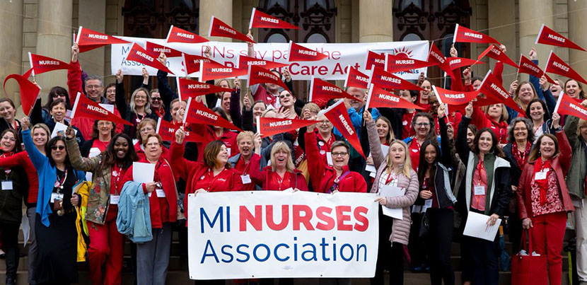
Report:
[[[373,277],[379,236],[375,197],[190,194],[190,279]]]

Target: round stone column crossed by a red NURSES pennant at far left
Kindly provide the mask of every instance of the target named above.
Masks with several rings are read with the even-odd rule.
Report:
[[[73,1],[71,0],[39,1],[37,54],[63,62],[71,60],[72,11]],[[36,79],[43,93],[48,93],[53,86],[67,88],[66,70],[47,72],[36,76]]]

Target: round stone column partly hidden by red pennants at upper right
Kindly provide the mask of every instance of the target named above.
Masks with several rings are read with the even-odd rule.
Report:
[[[540,26],[545,24],[554,28],[554,1],[553,0],[519,0],[518,11],[520,13],[520,52],[528,57],[530,49],[535,47],[538,52],[540,68],[544,68],[550,50],[554,47],[550,45],[535,45],[536,37],[540,31]],[[519,60],[515,59],[516,62]],[[521,76],[523,80],[528,80],[528,76]]]

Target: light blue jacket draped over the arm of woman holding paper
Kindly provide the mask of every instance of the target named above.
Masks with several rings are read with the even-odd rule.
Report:
[[[153,240],[149,199],[143,192],[142,183],[126,182],[120,192],[116,227],[123,235],[128,235],[133,243],[146,243]]]

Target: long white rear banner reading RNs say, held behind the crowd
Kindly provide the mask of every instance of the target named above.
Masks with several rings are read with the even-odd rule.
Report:
[[[149,39],[143,37],[120,37],[129,42],[136,42],[141,47],[146,47],[146,40],[158,45],[165,45],[163,39]],[[318,52],[328,55],[327,59],[318,62],[288,62],[288,43],[258,43],[255,44],[255,57],[289,64],[291,77],[294,80],[310,80],[312,76],[325,80],[344,80],[347,78],[347,66],[352,65],[365,73],[367,52],[388,52],[391,54],[404,54],[413,59],[426,60],[429,53],[429,42],[426,40],[413,42],[361,42],[361,43],[303,43]],[[132,44],[112,45],[112,74],[122,69],[124,75],[141,75],[141,69],[146,67],[150,75],[155,76],[157,70],[152,67],[127,61],[127,54]],[[202,44],[185,44],[172,42],[166,45],[175,50],[187,54],[202,55],[206,46],[211,47],[212,59],[227,66],[238,67],[238,54],[247,55],[245,42],[204,42]],[[181,57],[168,58],[167,66],[177,76],[185,76]],[[398,72],[397,76],[404,79],[417,79],[420,72],[426,75],[426,68],[413,69],[411,71]],[[170,74],[170,76],[173,76]],[[197,74],[192,74],[197,77]]]

